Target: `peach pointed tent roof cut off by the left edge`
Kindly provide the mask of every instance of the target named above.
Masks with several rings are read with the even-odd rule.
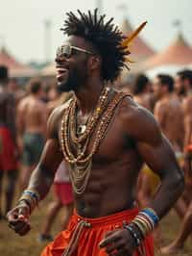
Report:
[[[11,77],[32,77],[36,74],[34,68],[17,62],[5,47],[0,49],[0,64],[9,67]]]

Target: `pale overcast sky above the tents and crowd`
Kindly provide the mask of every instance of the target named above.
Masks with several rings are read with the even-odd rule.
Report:
[[[65,12],[93,10],[97,5],[96,0],[0,0],[0,3],[0,46],[6,45],[22,62],[44,60],[46,19],[52,23],[47,44],[53,59],[63,39],[60,27]],[[127,10],[119,9],[120,4],[126,4]],[[177,28],[173,22],[180,19],[183,35],[192,45],[192,0],[103,0],[103,13],[113,16],[117,24],[127,14],[134,27],[148,20],[141,35],[155,49],[163,49],[175,38]]]

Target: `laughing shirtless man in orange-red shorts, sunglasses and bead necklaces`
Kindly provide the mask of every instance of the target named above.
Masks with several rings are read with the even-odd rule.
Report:
[[[21,236],[29,232],[29,217],[49,191],[64,155],[76,212],[41,255],[135,251],[138,256],[143,249],[146,256],[154,255],[149,234],[183,191],[182,171],[154,116],[127,94],[105,86],[120,75],[129,54],[112,19],[97,11],[70,12],[63,31],[68,38],[57,52],[57,78],[61,90],[74,90],[76,96],[51,115],[40,162],[7,216],[9,226]],[[144,161],[158,173],[161,186],[149,208],[139,212],[135,188]]]

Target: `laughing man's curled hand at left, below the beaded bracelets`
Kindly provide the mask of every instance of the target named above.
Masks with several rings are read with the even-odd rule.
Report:
[[[19,236],[24,236],[31,230],[29,217],[30,208],[22,202],[7,214],[8,226]]]

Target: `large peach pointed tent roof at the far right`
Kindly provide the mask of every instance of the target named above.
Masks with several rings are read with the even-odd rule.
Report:
[[[192,48],[182,34],[163,51],[157,53],[144,64],[147,69],[162,65],[187,65],[192,63]]]

